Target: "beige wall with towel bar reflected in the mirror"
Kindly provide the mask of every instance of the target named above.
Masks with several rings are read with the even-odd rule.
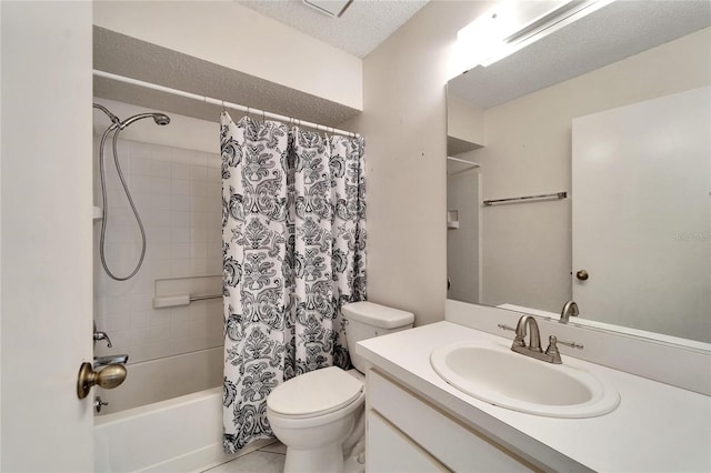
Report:
[[[487,110],[482,199],[571,191],[571,120],[710,83],[711,29]],[[572,190],[574,191],[574,190]],[[560,312],[571,294],[564,201],[482,209],[483,299]]]

